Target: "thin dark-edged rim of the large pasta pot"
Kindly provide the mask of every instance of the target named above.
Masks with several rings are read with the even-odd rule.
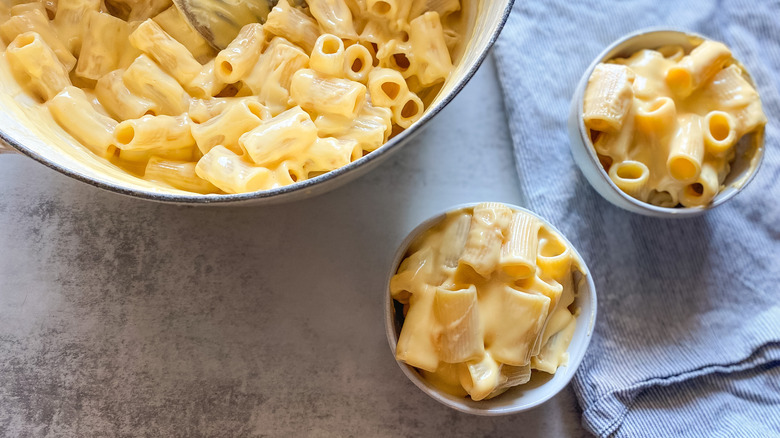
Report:
[[[477,57],[472,67],[468,71],[466,71],[463,77],[461,77],[458,80],[457,85],[450,91],[450,93],[448,93],[436,105],[428,108],[428,110],[425,111],[423,117],[419,121],[417,121],[414,125],[412,125],[412,127],[403,131],[401,134],[399,134],[398,136],[394,137],[393,139],[385,143],[379,149],[371,152],[370,154],[356,161],[353,161],[352,163],[344,167],[341,167],[339,169],[333,170],[331,172],[325,173],[323,175],[319,175],[311,179],[299,181],[289,186],[278,187],[275,189],[264,190],[259,192],[226,194],[226,195],[197,195],[197,194],[189,195],[189,194],[144,192],[136,189],[129,189],[119,184],[97,181],[80,172],[73,171],[65,166],[61,166],[57,163],[54,163],[48,160],[47,158],[37,154],[36,152],[33,152],[32,150],[28,149],[23,144],[17,142],[14,138],[8,136],[3,131],[0,131],[0,143],[4,142],[9,146],[13,147],[14,149],[18,150],[19,152],[23,153],[24,155],[27,155],[33,160],[38,161],[39,163],[44,164],[51,169],[54,169],[71,178],[77,179],[87,184],[91,184],[95,187],[99,187],[101,189],[109,190],[123,195],[128,195],[128,196],[133,196],[133,197],[143,198],[143,199],[150,199],[150,200],[160,201],[160,202],[186,203],[186,204],[236,203],[240,201],[247,201],[250,199],[253,200],[253,199],[276,198],[276,197],[282,197],[283,195],[291,194],[293,192],[299,192],[299,191],[303,192],[306,190],[310,190],[312,189],[313,186],[320,183],[324,183],[325,181],[341,179],[344,175],[350,173],[352,170],[358,168],[359,166],[367,165],[368,163],[374,160],[382,158],[390,151],[394,151],[395,149],[397,149],[399,145],[404,144],[405,140],[413,137],[420,129],[422,129],[422,127],[426,123],[428,123],[431,119],[433,119],[434,116],[439,114],[439,112],[441,112],[441,110],[444,109],[444,107],[446,107],[455,98],[455,96],[457,96],[463,90],[466,84],[474,77],[477,70],[479,70],[479,67],[485,61],[485,58],[487,58],[488,54],[490,53],[490,49],[493,47],[496,40],[498,39],[499,34],[501,33],[504,26],[506,25],[506,22],[509,19],[509,14],[510,12],[512,12],[512,7],[514,3],[515,0],[507,0],[507,6],[504,9],[503,13],[501,14],[501,18],[497,23],[495,30],[490,36],[490,39],[488,40],[484,50]]]

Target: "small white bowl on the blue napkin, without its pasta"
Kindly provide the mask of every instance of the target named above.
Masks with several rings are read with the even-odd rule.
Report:
[[[732,163],[731,172],[724,182],[725,189],[720,191],[712,202],[705,207],[692,208],[665,208],[658,207],[636,198],[632,198],[620,190],[609,178],[609,175],[599,163],[596,156],[596,150],[588,135],[583,121],[583,99],[585,88],[588,85],[588,79],[600,62],[607,61],[616,57],[627,57],[642,49],[655,49],[665,45],[680,45],[686,50],[691,50],[697,43],[711,39],[705,36],[674,29],[649,29],[642,30],[630,35],[624,36],[607,47],[585,70],[574,97],[571,101],[569,111],[569,137],[571,138],[571,153],[574,162],[577,163],[585,178],[591,186],[612,204],[628,210],[633,213],[639,213],[646,216],[657,218],[683,218],[698,216],[709,209],[717,207],[739,193],[750,181],[753,180],[758,168],[763,161],[764,156],[764,133],[763,130],[746,135],[740,141],[747,145],[745,153],[737,153],[737,158]],[[755,84],[749,73],[746,76],[753,86]]]

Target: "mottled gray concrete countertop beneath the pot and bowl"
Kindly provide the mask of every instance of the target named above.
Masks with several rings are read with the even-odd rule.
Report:
[[[480,418],[401,373],[396,246],[474,201],[523,204],[489,59],[373,173],[302,202],[154,204],[0,157],[0,435],[582,436],[570,389]]]

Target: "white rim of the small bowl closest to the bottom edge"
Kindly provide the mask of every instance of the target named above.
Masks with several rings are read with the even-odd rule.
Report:
[[[450,408],[455,409],[455,410],[460,411],[460,412],[464,412],[466,414],[480,415],[480,416],[499,416],[499,415],[508,415],[508,414],[514,414],[514,413],[518,413],[518,412],[522,412],[522,411],[527,411],[527,410],[532,409],[532,408],[534,408],[536,406],[539,406],[539,405],[545,403],[546,401],[548,401],[549,399],[553,398],[563,388],[565,388],[569,384],[571,379],[574,377],[574,374],[575,374],[577,368],[580,366],[580,363],[582,362],[582,359],[585,356],[585,352],[587,351],[588,346],[590,345],[591,338],[593,337],[593,330],[594,330],[595,325],[596,325],[596,314],[597,314],[597,304],[598,304],[598,300],[597,300],[597,297],[596,297],[596,285],[593,282],[593,276],[591,275],[591,272],[588,269],[587,264],[585,263],[584,259],[580,255],[580,253],[577,251],[577,248],[575,248],[574,245],[571,244],[571,242],[566,238],[565,235],[563,235],[563,233],[561,233],[560,230],[558,230],[555,226],[550,224],[550,222],[548,222],[546,219],[544,219],[542,217],[539,217],[539,215],[537,215],[536,213],[534,213],[534,212],[532,212],[532,211],[530,211],[530,210],[528,210],[526,208],[517,206],[517,205],[508,204],[508,203],[505,203],[505,202],[502,202],[502,204],[506,205],[507,207],[509,207],[511,209],[522,211],[524,213],[530,214],[530,215],[538,218],[547,227],[549,227],[551,230],[555,231],[563,239],[563,241],[569,246],[569,248],[572,249],[574,254],[581,261],[582,270],[583,270],[583,276],[584,276],[583,278],[584,278],[584,280],[587,283],[587,289],[589,289],[589,297],[586,297],[586,298],[589,298],[588,301],[589,301],[589,305],[590,305],[590,308],[591,308],[591,312],[588,315],[580,314],[578,316],[578,318],[588,318],[588,320],[589,320],[588,321],[588,325],[587,325],[588,329],[587,329],[587,333],[585,334],[585,338],[584,338],[585,340],[584,340],[584,342],[582,344],[580,344],[581,347],[578,350],[580,352],[580,354],[576,355],[576,356],[570,356],[569,357],[569,363],[568,363],[568,365],[566,365],[566,369],[567,369],[566,378],[565,379],[561,379],[561,380],[557,380],[557,381],[545,382],[544,384],[542,384],[542,387],[547,386],[547,385],[550,385],[550,386],[548,387],[548,390],[544,394],[544,396],[539,397],[539,398],[534,399],[534,400],[531,400],[531,401],[529,401],[527,403],[522,403],[522,404],[517,404],[517,405],[512,405],[512,406],[499,407],[499,408],[477,408],[477,407],[472,407],[472,406],[468,406],[468,405],[465,405],[465,404],[455,404],[453,402],[453,400],[451,399],[451,398],[453,398],[453,396],[451,396],[449,394],[443,393],[441,390],[437,389],[432,384],[428,383],[414,369],[414,367],[412,367],[410,365],[407,365],[406,363],[404,363],[402,361],[396,360],[396,363],[401,368],[401,371],[406,375],[406,377],[409,378],[409,380],[411,380],[412,383],[414,383],[415,386],[420,388],[420,390],[422,390],[425,394],[427,394],[428,396],[430,396],[431,398],[433,398],[437,402],[439,402],[439,403],[441,403],[441,404],[443,404],[443,405],[445,405],[447,407],[450,407]],[[439,222],[441,222],[445,218],[447,213],[458,211],[458,210],[465,209],[465,208],[471,208],[471,207],[474,207],[476,205],[479,205],[479,203],[459,204],[459,205],[447,208],[446,210],[444,210],[444,211],[442,211],[442,212],[440,212],[440,213],[438,213],[438,214],[436,214],[436,215],[434,215],[434,216],[424,220],[422,223],[420,223],[420,225],[415,227],[407,235],[407,237],[403,240],[401,245],[396,250],[396,254],[395,254],[394,258],[393,258],[393,262],[392,262],[391,267],[390,267],[390,272],[389,272],[389,274],[387,276],[387,279],[385,281],[384,297],[382,298],[382,306],[384,308],[384,313],[385,313],[385,331],[386,331],[386,334],[387,334],[387,342],[388,342],[388,345],[390,346],[390,351],[391,351],[391,353],[393,355],[393,359],[394,360],[395,360],[396,343],[398,342],[398,334],[395,331],[395,318],[394,318],[394,313],[393,313],[394,312],[394,304],[393,304],[393,299],[390,296],[390,289],[389,289],[390,279],[396,274],[396,271],[398,270],[398,266],[401,264],[401,262],[405,258],[406,252],[408,251],[409,246],[414,241],[414,239],[419,237],[426,230],[430,229],[431,227],[433,227],[436,224],[438,224]],[[578,294],[580,292],[581,292],[580,290],[577,291]],[[572,338],[572,342],[574,342],[575,338],[576,338],[576,332],[575,332],[575,337]],[[570,344],[569,348],[567,349],[567,351],[571,351],[571,350],[572,350],[572,345]],[[559,371],[560,371],[560,369],[559,369]],[[504,395],[507,395],[507,394],[506,393],[502,394],[499,397],[502,397]],[[464,400],[467,400],[467,399],[464,399]],[[490,403],[490,401],[488,400],[488,401],[472,402],[472,403],[485,403],[485,404],[488,404],[488,403]]]

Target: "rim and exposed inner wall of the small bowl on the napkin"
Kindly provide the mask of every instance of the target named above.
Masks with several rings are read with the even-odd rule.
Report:
[[[577,123],[580,139],[588,150],[588,156],[590,157],[589,165],[596,167],[599,170],[601,177],[606,183],[608,183],[612,190],[614,190],[625,201],[632,204],[635,208],[644,209],[660,215],[675,217],[701,214],[707,209],[717,207],[718,205],[721,205],[734,197],[748,182],[750,182],[750,180],[752,180],[756,174],[756,171],[758,170],[759,165],[761,164],[764,155],[763,129],[745,135],[742,137],[742,139],[740,139],[739,143],[737,143],[736,157],[732,162],[731,171],[723,183],[725,188],[715,196],[710,205],[706,207],[693,208],[665,208],[642,202],[624,193],[612,182],[612,179],[601,166],[601,163],[599,163],[596,150],[593,147],[593,143],[590,140],[588,130],[585,127],[585,122],[582,118],[585,88],[587,86],[590,75],[596,68],[596,65],[600,62],[607,61],[612,58],[631,56],[637,51],[643,49],[656,49],[665,45],[680,45],[686,51],[690,51],[705,39],[707,38],[693,32],[668,29],[646,30],[628,35],[613,43],[604,52],[602,52],[598,58],[596,58],[596,60],[590,65],[588,70],[582,76],[582,80],[577,87],[575,100],[578,105]],[[750,74],[748,73],[747,69],[744,68],[744,66],[743,70],[745,71],[747,80],[755,87],[755,82],[750,77]]]

